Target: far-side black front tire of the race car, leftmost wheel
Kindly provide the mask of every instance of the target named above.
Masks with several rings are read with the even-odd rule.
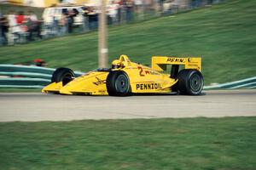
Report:
[[[68,68],[58,68],[54,71],[51,82],[62,82],[63,86],[65,86],[68,82],[71,82],[75,77],[73,71]]]

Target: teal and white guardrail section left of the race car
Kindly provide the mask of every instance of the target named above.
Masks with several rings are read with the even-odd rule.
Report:
[[[34,65],[0,65],[0,88],[44,88],[55,69]],[[75,71],[75,76],[83,72]]]

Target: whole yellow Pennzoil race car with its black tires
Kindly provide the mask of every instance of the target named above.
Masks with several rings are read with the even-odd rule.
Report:
[[[170,68],[170,74],[163,72],[167,68]],[[201,58],[154,56],[150,68],[121,55],[113,60],[112,68],[96,69],[80,77],[75,77],[68,68],[58,68],[42,92],[112,96],[172,92],[198,95],[203,83]]]

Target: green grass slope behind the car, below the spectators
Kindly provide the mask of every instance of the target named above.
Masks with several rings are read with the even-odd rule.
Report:
[[[255,76],[256,3],[220,5],[139,23],[111,26],[109,63],[119,54],[150,65],[152,55],[202,56],[206,84]],[[49,67],[90,71],[97,67],[97,32],[0,48],[0,63],[41,58]]]

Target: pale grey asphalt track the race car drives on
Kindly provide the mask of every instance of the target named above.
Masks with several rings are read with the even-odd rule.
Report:
[[[129,97],[0,93],[0,122],[256,116],[256,90]]]

